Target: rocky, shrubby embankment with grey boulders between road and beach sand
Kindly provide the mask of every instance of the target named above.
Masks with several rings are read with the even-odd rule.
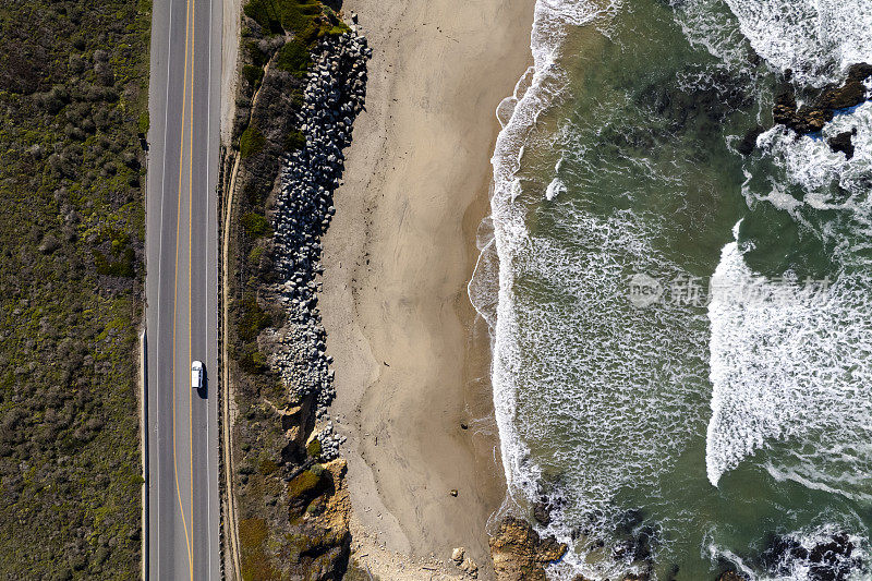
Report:
[[[332,371],[316,277],[370,52],[326,5],[272,8],[244,7],[234,147],[223,160],[231,550],[246,579],[341,579],[350,505],[326,417]]]

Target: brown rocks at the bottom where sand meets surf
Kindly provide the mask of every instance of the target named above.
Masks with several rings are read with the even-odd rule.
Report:
[[[545,581],[545,567],[567,552],[565,544],[553,536],[541,538],[529,522],[514,517],[502,520],[489,544],[499,581]]]

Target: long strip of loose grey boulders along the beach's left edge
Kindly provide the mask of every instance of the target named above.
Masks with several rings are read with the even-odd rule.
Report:
[[[313,51],[298,126],[305,146],[283,160],[280,193],[271,216],[274,270],[278,283],[270,289],[288,313],[286,338],[270,356],[284,384],[296,397],[315,396],[317,416],[325,417],[335,397],[332,358],[326,353],[326,334],[317,307],[324,271],[319,262],[322,235],[336,213],[334,191],[344,169],[342,149],[351,144],[354,118],[363,110],[366,39],[355,32],[322,40]],[[319,435],[323,456],[338,455],[339,437]]]

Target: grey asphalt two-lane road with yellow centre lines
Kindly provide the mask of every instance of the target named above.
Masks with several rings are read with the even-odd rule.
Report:
[[[221,0],[155,0],[146,198],[147,577],[219,579]],[[206,383],[191,388],[191,362]]]

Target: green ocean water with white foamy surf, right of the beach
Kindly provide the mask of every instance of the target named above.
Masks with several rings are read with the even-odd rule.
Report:
[[[549,574],[872,579],[872,102],[771,114],[872,62],[872,2],[535,10],[470,296],[510,504],[571,546]]]

